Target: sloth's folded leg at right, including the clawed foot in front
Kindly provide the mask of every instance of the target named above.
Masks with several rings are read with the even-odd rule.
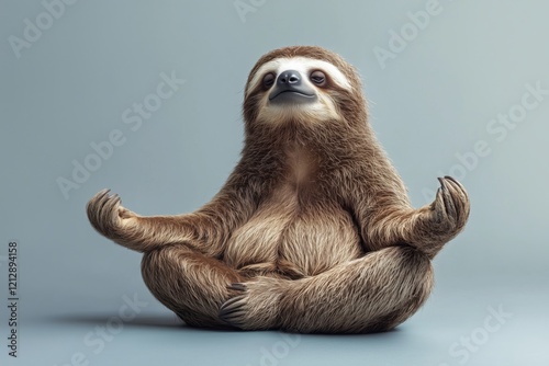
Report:
[[[220,317],[246,330],[386,331],[412,316],[432,287],[427,256],[412,247],[391,247],[313,277],[234,284],[240,295],[223,305]]]

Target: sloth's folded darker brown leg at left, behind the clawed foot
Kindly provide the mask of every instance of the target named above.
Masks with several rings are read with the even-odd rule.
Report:
[[[219,309],[234,295],[227,286],[244,279],[224,263],[184,245],[145,253],[142,273],[153,295],[192,327],[226,327]]]

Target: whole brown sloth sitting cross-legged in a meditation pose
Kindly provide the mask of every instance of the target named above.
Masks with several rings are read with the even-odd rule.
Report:
[[[103,190],[93,228],[144,253],[152,294],[190,327],[388,331],[433,288],[432,260],[469,198],[438,178],[413,208],[378,142],[356,69],[316,46],[264,55],[244,91],[240,160],[197,211],[139,216]]]

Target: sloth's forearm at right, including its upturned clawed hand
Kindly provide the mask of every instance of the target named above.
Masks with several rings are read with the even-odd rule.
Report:
[[[440,178],[435,201],[413,209],[402,205],[380,205],[362,227],[370,250],[406,243],[434,256],[464,227],[469,198],[463,186],[450,176]]]

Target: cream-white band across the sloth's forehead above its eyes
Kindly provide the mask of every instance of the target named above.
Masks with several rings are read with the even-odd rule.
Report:
[[[273,72],[277,77],[284,70],[295,70],[302,76],[306,76],[307,82],[309,75],[314,70],[322,70],[326,72],[330,79],[338,84],[340,88],[351,89],[349,80],[345,75],[339,71],[334,65],[307,57],[291,57],[291,58],[276,58],[266,64],[264,64],[251,78],[248,87],[246,88],[246,96],[254,90],[262,80],[267,72]]]

